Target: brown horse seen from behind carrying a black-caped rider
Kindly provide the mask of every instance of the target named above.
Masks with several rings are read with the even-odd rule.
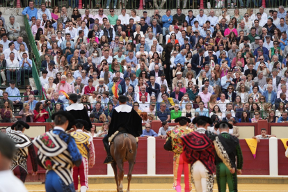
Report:
[[[114,170],[115,181],[117,184],[117,192],[123,192],[123,177],[124,168],[123,164],[125,161],[129,163],[128,172],[128,187],[127,192],[130,191],[130,181],[132,177],[132,170],[134,168],[134,162],[137,154],[137,142],[136,138],[131,134],[120,134],[115,137],[113,143],[110,146],[111,156],[114,159],[114,163],[111,166]],[[119,169],[119,175],[117,172],[117,167]]]

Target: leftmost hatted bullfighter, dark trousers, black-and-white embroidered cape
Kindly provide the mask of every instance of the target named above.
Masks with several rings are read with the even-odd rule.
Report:
[[[18,120],[12,125],[11,129],[14,131],[7,132],[6,134],[15,143],[17,150],[12,159],[12,166],[10,169],[13,170],[14,175],[24,183],[28,175],[28,154],[31,159],[33,176],[37,175],[38,171],[37,157],[31,138],[24,134],[25,129],[29,129],[29,125],[22,120]]]

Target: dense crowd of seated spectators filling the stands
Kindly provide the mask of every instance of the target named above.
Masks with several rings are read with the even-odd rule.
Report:
[[[112,91],[118,83],[118,95],[129,98],[127,104],[145,123],[197,115],[232,123],[288,121],[288,11],[283,6],[269,15],[262,7],[257,13],[248,8],[243,16],[237,8],[231,16],[223,8],[219,17],[214,10],[209,16],[203,10],[184,15],[181,8],[175,15],[154,10],[151,17],[146,11],[143,17],[125,8],[121,15],[109,11],[104,15],[99,8],[91,15],[86,9],[81,15],[73,8],[70,15],[65,7],[50,12],[45,3],[34,8],[33,1],[24,8],[47,100],[23,84],[32,61],[19,23],[14,16],[6,23],[0,17],[1,82],[9,85],[0,90],[2,122],[10,122],[16,107],[22,120],[45,122],[47,111],[69,106],[63,91],[81,95],[91,122],[108,122],[118,106]],[[25,86],[24,95],[17,86]]]

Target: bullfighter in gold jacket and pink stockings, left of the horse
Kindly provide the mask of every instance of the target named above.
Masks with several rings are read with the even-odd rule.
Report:
[[[84,130],[85,129],[85,130]],[[70,133],[75,139],[79,152],[82,155],[82,163],[79,167],[73,168],[73,180],[75,190],[78,191],[78,175],[80,177],[81,192],[85,192],[88,189],[88,170],[93,168],[95,164],[95,148],[93,144],[93,137],[88,134],[90,131],[88,122],[85,120],[75,120],[74,131]]]

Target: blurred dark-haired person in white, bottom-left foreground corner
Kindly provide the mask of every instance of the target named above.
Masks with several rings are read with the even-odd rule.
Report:
[[[6,134],[0,133],[0,190],[27,192],[23,182],[10,170],[15,151],[15,143]]]

